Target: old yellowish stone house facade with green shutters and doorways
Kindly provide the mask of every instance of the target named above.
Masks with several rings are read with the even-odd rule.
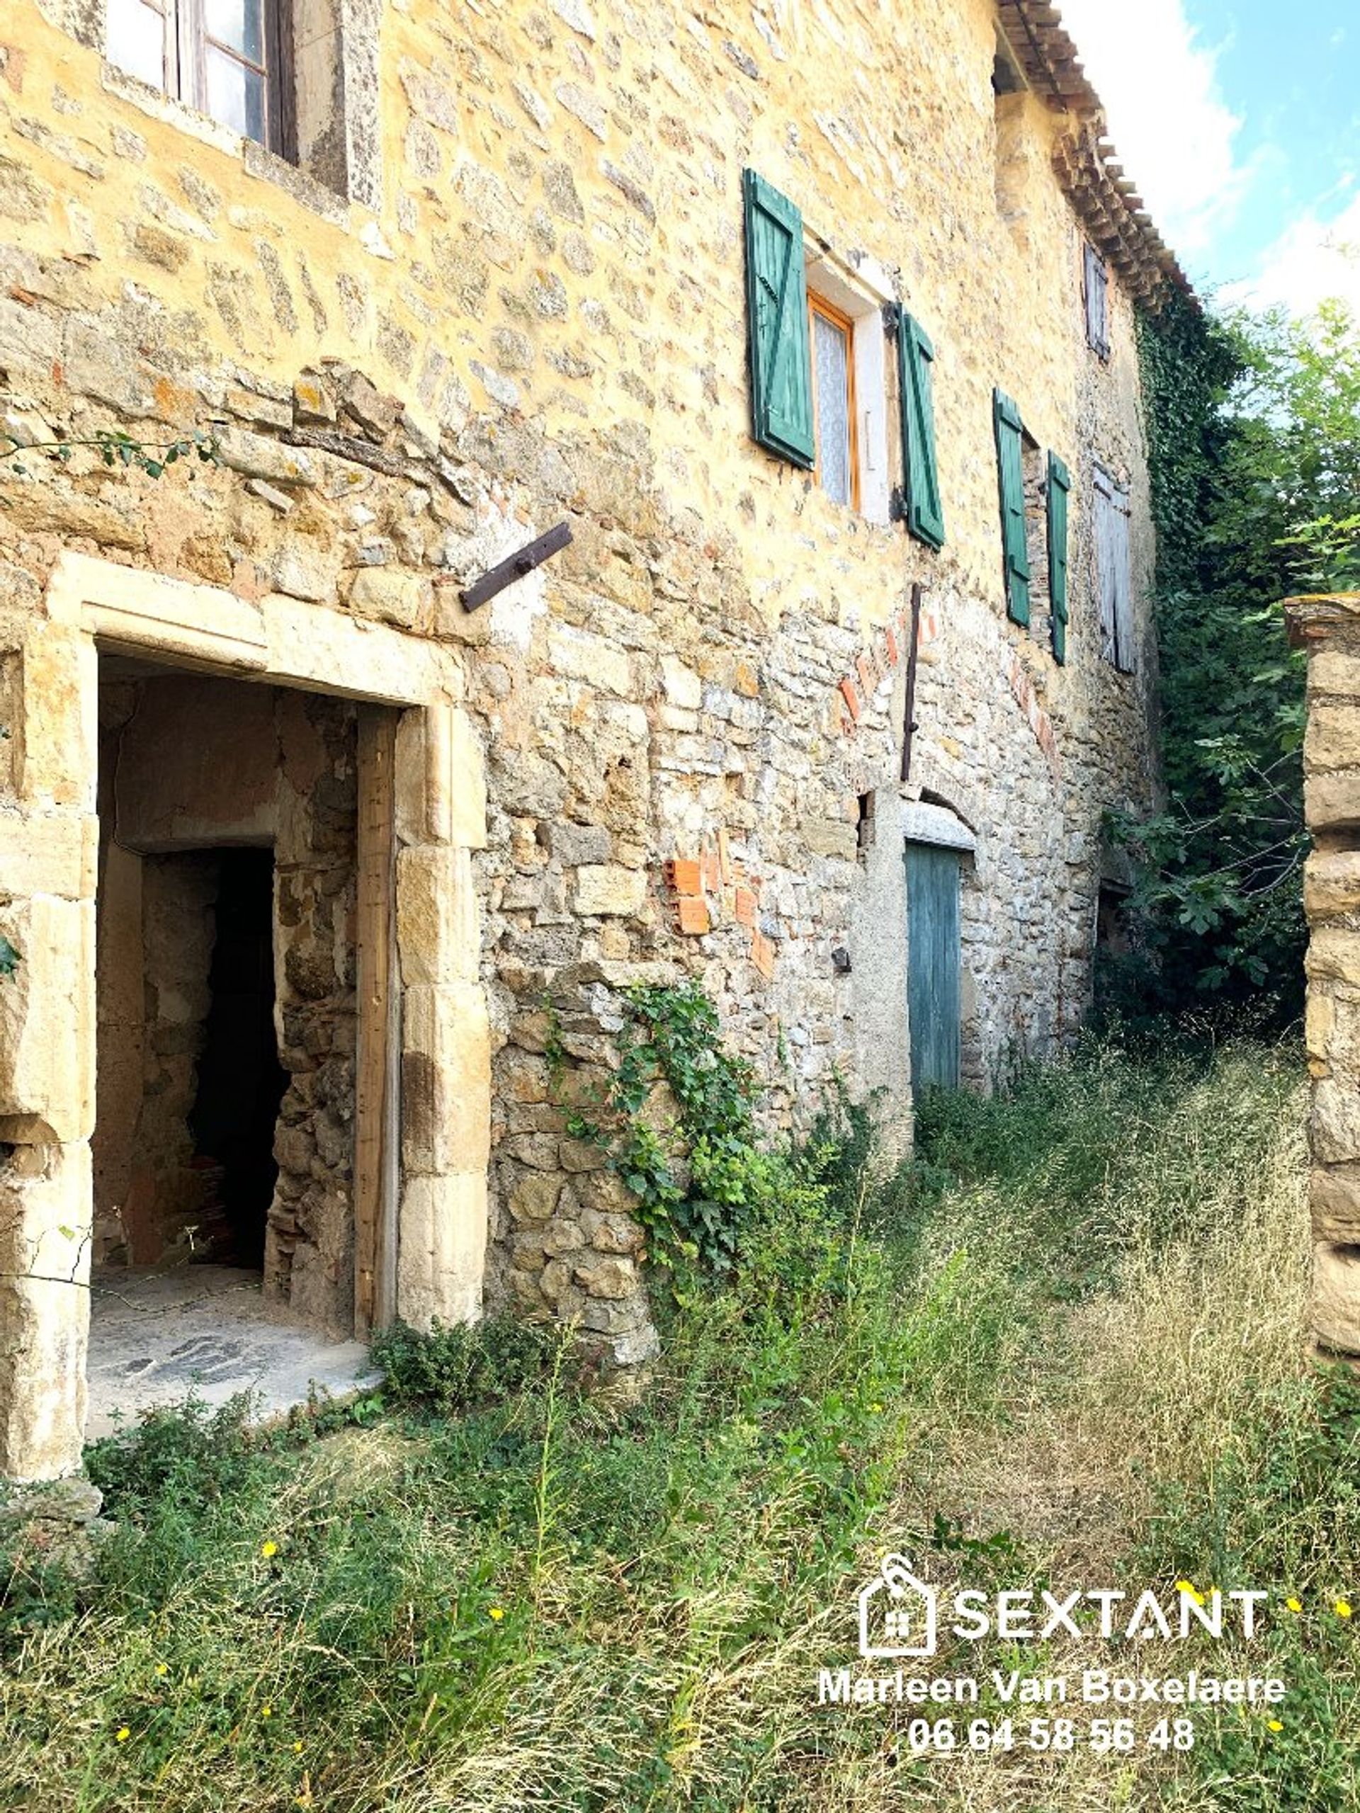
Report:
[[[704,979],[772,1126],[840,1073],[905,1137],[914,1046],[986,1086],[1081,1023],[1184,279],[1054,7],[908,11],[294,0],[207,45],[241,132],[125,7],[7,9],[0,1469],[76,1463],[91,1262],[187,1227],[330,1331],[646,1360],[546,1057],[631,979]]]

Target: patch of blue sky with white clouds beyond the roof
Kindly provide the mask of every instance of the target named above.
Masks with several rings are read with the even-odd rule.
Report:
[[[1200,294],[1360,314],[1358,0],[1059,0]]]

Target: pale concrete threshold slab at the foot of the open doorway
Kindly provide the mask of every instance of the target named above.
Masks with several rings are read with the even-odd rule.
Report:
[[[190,1392],[219,1405],[248,1391],[256,1418],[268,1421],[310,1396],[346,1398],[381,1382],[363,1342],[330,1340],[274,1314],[257,1271],[96,1273],[85,1440],[127,1429],[140,1411],[183,1403]]]

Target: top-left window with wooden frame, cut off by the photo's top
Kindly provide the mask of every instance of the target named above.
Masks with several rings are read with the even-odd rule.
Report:
[[[109,0],[109,60],[296,161],[288,0]]]

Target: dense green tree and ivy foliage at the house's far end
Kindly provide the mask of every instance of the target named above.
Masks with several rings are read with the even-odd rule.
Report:
[[[1113,814],[1135,859],[1133,957],[1106,1001],[1161,1010],[1302,995],[1304,658],[1280,600],[1360,575],[1360,337],[1306,321],[1141,321],[1168,800]]]

